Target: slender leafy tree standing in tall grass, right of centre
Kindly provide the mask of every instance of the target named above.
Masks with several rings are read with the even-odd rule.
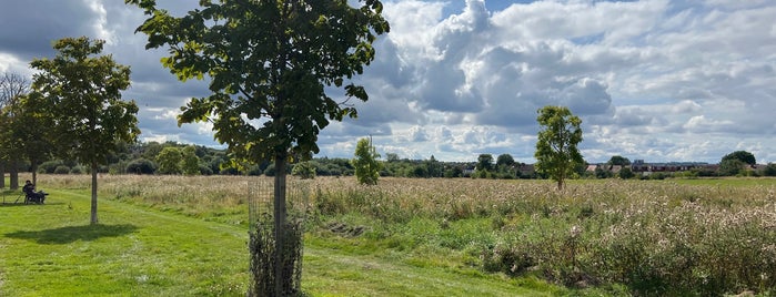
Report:
[[[557,182],[563,190],[565,180],[574,174],[584,160],[576,145],[582,142],[582,120],[564,106],[544,106],[538,110],[540,124],[536,142],[536,171]]]

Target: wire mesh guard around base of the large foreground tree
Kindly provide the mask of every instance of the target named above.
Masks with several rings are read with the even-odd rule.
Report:
[[[302,238],[310,184],[306,181],[288,180],[286,219],[281,235],[283,253],[280,265],[275,263],[278,233],[274,227],[273,193],[274,184],[271,178],[256,178],[249,184],[249,249],[252,275],[249,296],[299,296],[302,280]],[[275,279],[275,275],[279,275],[280,279]],[[278,288],[281,291],[276,291]]]

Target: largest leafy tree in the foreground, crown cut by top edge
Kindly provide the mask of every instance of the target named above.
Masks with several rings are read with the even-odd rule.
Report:
[[[275,163],[274,256],[281,263],[286,161],[318,153],[318,134],[331,120],[356,116],[355,107],[335,101],[326,88],[343,88],[344,98],[367,100],[365,89],[350,80],[374,59],[376,35],[389,31],[383,4],[202,0],[202,9],[175,18],[157,9],[154,0],[125,2],[149,16],[137,31],[148,34],[147,49],[169,48],[162,64],[179,80],[210,76],[212,94],[192,99],[179,124],[210,121],[232,156]],[[279,281],[263,294],[291,294],[280,284],[291,276],[281,273],[275,266],[273,279]]]

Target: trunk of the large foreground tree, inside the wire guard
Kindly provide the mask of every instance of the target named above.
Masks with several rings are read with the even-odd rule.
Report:
[[[292,277],[283,275],[283,242],[285,238],[285,158],[284,154],[275,156],[274,178],[274,227],[275,227],[275,294],[282,294],[283,279]]]

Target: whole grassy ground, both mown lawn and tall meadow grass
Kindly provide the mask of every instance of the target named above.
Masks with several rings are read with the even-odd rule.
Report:
[[[270,178],[103,175],[99,227],[88,226],[88,176],[38,184],[51,205],[0,208],[0,293],[88,293],[68,275],[90,269],[58,267],[81,262],[118,278],[105,285],[117,294],[244,293],[248,204],[266,198]],[[290,188],[306,193],[293,201],[308,214],[310,296],[776,294],[776,180],[572,181],[558,192],[548,181],[319,177]],[[41,249],[67,259],[26,253]],[[30,267],[48,286],[20,276]]]

